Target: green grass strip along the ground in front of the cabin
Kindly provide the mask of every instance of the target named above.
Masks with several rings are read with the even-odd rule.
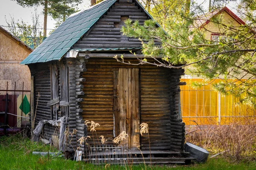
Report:
[[[0,137],[0,170],[104,170],[104,166],[93,166],[84,162],[65,160],[61,156],[49,158],[46,156],[32,155],[32,151],[57,152],[56,149],[46,144],[31,142],[19,136],[9,138]],[[144,165],[132,166],[132,170],[145,169]],[[108,170],[125,170],[129,167],[110,166]],[[162,166],[155,165],[153,170],[256,170],[256,162],[230,163],[227,158],[208,159],[205,164],[191,164],[189,166]],[[147,167],[147,170],[151,170]]]

